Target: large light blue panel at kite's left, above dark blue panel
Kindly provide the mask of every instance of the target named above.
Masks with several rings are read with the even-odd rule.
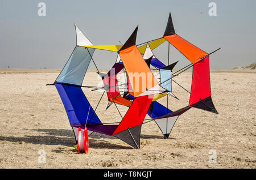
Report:
[[[82,85],[95,49],[76,46],[55,82]]]

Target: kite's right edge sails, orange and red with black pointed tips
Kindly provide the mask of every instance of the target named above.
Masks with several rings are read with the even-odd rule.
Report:
[[[171,13],[164,38],[193,63],[193,75],[189,106],[217,113],[210,92],[209,54],[176,35]]]

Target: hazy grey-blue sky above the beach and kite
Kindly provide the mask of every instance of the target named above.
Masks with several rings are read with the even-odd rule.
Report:
[[[46,3],[46,16],[38,3]],[[215,2],[217,16],[209,16]],[[76,44],[74,23],[94,45],[119,45],[139,24],[137,44],[163,36],[171,11],[178,35],[210,53],[210,68],[233,68],[256,61],[256,1],[0,1],[0,68],[63,68]],[[167,62],[165,42],[154,53]],[[96,50],[100,69],[117,53]],[[171,48],[171,62],[189,61]],[[93,66],[90,66],[93,68]]]

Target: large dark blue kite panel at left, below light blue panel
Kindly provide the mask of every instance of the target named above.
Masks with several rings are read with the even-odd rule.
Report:
[[[71,125],[101,123],[81,87],[55,83]]]

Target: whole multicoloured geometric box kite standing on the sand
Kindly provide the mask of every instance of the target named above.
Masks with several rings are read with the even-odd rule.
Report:
[[[204,52],[184,40],[184,38],[176,35],[171,13],[163,37],[144,42],[140,45],[136,45],[138,27],[135,28],[123,45],[93,45],[76,24],[75,29],[77,40],[75,49],[52,85],[56,86],[63,101],[70,125],[75,133],[76,142],[77,132],[80,128],[84,129],[86,127],[89,135],[92,132],[99,132],[115,136],[134,148],[140,148],[143,121],[150,119],[155,121],[162,131],[164,138],[168,138],[177,118],[192,107],[217,113],[210,92],[209,55],[211,53]],[[173,72],[172,70],[177,62],[169,65],[168,61],[166,66],[163,62],[159,61],[152,53],[152,50],[158,48],[165,41],[170,42],[171,45],[191,61],[191,64],[181,68],[179,71]],[[170,44],[168,44],[169,48]],[[108,73],[98,71],[93,60],[95,49],[117,52],[117,61]],[[91,60],[104,83],[104,87],[101,89],[104,89],[104,93],[106,92],[108,96],[109,102],[106,105],[106,110],[112,104],[116,108],[116,104],[129,107],[124,117],[120,114],[122,121],[117,125],[101,122],[96,114],[98,105],[96,109],[93,109],[81,89],[98,89],[96,86],[82,86]],[[168,96],[177,98],[172,93],[172,82],[175,82],[173,78],[190,67],[193,67],[193,76],[191,92],[189,92],[191,93],[189,104],[172,112],[172,110],[168,109],[168,105],[167,107],[163,106],[158,100],[167,96],[168,104]],[[156,78],[156,75],[151,71],[153,68],[159,71],[160,78]],[[126,82],[122,84],[122,88],[118,83],[118,75],[121,73],[125,75],[126,79]],[[160,79],[160,81],[158,82],[157,79]],[[104,96],[104,93],[102,96]],[[150,116],[150,119],[145,119],[147,114]]]

